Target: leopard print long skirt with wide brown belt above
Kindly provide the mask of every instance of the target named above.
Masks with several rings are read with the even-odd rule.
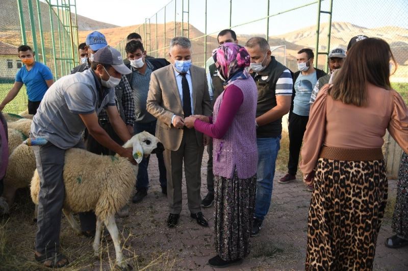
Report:
[[[308,218],[306,270],[371,270],[387,203],[384,159],[320,158]]]

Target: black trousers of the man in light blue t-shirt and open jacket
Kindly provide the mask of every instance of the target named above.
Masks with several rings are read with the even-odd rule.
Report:
[[[299,153],[302,146],[304,131],[308,124],[309,116],[299,116],[291,113],[289,117],[289,174],[296,175],[297,164],[299,163]]]

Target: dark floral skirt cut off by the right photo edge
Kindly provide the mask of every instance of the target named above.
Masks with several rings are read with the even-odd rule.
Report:
[[[408,239],[408,155],[405,153],[402,154],[399,165],[392,230],[404,239]]]

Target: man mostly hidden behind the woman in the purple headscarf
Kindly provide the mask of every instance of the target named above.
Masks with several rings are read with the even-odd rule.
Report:
[[[237,35],[231,29],[224,29],[217,36],[218,44],[221,45],[226,42],[234,42],[238,44]],[[214,108],[214,103],[218,96],[224,91],[224,81],[218,77],[218,70],[215,67],[214,59],[211,56],[207,63],[212,63],[208,68],[207,81],[208,91],[210,93],[211,109]],[[213,174],[213,141],[210,140],[207,146],[208,162],[207,162],[207,190],[208,193],[201,201],[202,207],[210,207],[214,202],[214,174]]]

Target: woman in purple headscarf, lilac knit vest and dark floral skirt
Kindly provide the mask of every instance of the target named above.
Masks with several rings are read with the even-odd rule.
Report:
[[[213,54],[224,91],[214,104],[213,116],[185,118],[213,138],[215,187],[215,251],[213,267],[240,264],[249,254],[249,237],[257,189],[258,150],[255,114],[258,91],[246,67],[250,57],[244,47],[224,43]]]

